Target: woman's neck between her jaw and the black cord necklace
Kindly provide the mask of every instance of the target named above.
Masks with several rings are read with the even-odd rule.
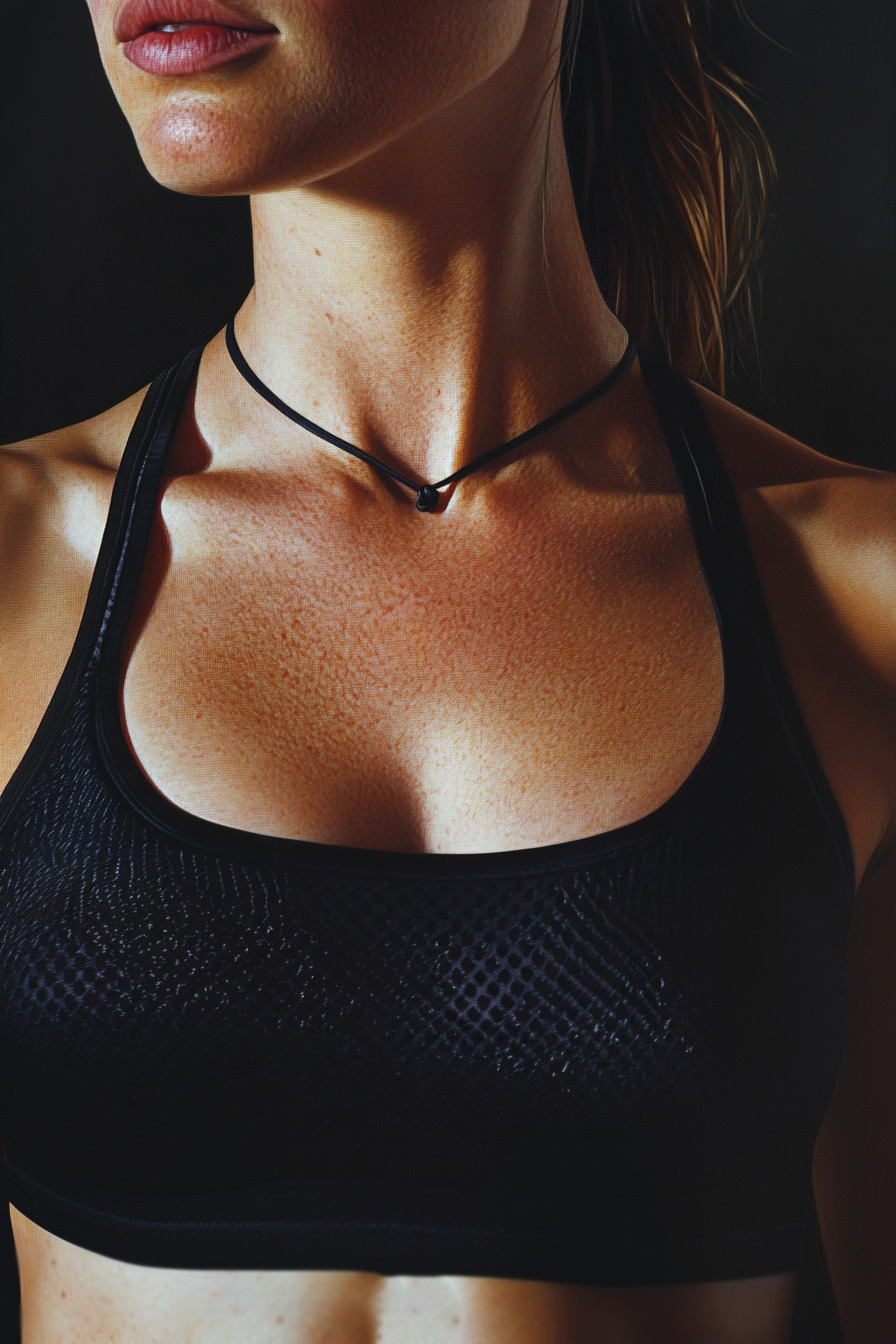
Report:
[[[580,235],[559,91],[529,126],[519,99],[470,101],[486,98],[488,112],[451,108],[450,134],[431,118],[375,165],[251,202],[255,285],[235,321],[246,359],[296,410],[419,481],[571,402],[626,345]],[[304,442],[227,376],[239,423]],[[333,454],[337,470],[369,472]]]

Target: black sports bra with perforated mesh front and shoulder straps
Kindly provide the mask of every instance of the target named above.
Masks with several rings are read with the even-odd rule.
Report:
[[[0,800],[5,1198],[157,1266],[797,1269],[853,856],[693,388],[642,356],[721,638],[704,755],[609,832],[404,853],[191,816],[128,750],[122,637],[200,353],[146,392]]]

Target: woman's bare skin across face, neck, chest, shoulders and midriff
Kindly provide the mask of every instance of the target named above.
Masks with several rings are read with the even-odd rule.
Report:
[[[236,332],[316,423],[435,481],[621,358],[548,87],[563,0],[254,0],[239,12],[277,40],[189,77],[136,69],[118,5],[89,8],[149,171],[175,191],[251,195],[255,285]],[[26,523],[0,660],[39,669],[0,718],[0,788],[71,648],[141,395],[3,453],[0,500]],[[896,816],[892,633],[869,582],[892,485],[700,395],[861,879]],[[410,491],[255,396],[219,333],[130,630],[134,754],[197,814],[369,848],[512,849],[650,812],[703,754],[723,689],[670,472],[635,364],[420,516]],[[263,702],[258,685],[273,688]],[[304,774],[285,777],[285,757]],[[786,1344],[790,1331],[793,1274],[619,1289],[169,1270],[11,1216],[24,1344]]]

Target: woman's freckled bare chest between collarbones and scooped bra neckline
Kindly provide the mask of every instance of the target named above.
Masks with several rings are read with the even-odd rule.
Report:
[[[122,714],[154,786],[228,825],[407,851],[570,840],[657,808],[720,716],[678,501],[591,547],[180,552],[144,574]]]

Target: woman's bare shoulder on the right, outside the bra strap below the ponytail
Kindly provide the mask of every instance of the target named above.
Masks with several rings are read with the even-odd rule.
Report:
[[[888,743],[896,837],[896,473],[819,453],[695,390],[737,492],[763,586],[817,641],[819,659],[841,660],[844,679],[873,707]]]

